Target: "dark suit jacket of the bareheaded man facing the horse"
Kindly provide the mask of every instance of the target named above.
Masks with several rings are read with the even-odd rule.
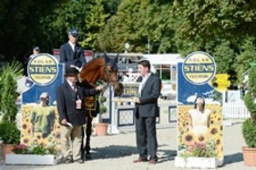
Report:
[[[142,77],[138,77],[138,82]],[[160,96],[161,79],[155,74],[151,74],[141,90],[140,103],[135,105],[135,116],[138,117],[158,117],[159,107],[157,98]]]

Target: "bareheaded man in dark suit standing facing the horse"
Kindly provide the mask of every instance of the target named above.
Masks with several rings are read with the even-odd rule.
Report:
[[[157,131],[156,118],[159,116],[157,99],[160,96],[161,79],[150,72],[150,62],[141,60],[138,63],[141,77],[139,86],[139,98],[135,98],[135,129],[137,147],[140,157],[133,161],[147,162],[150,156],[150,164],[157,163]]]

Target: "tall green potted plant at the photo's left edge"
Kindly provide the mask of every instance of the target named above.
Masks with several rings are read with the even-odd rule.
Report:
[[[16,99],[18,98],[17,79],[23,73],[22,65],[16,61],[11,65],[6,64],[1,70],[1,112],[2,119],[0,122],[0,138],[2,143],[2,154],[5,159],[6,152],[11,152],[13,145],[20,143],[20,131],[16,126],[16,115],[18,108]],[[11,148],[10,148],[11,147]]]

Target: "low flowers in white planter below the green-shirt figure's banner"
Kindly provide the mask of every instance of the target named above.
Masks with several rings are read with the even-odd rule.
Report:
[[[35,147],[28,147],[27,145],[16,145],[12,150],[16,154],[35,154],[35,155],[56,155],[54,147],[46,148],[43,145],[37,145]]]

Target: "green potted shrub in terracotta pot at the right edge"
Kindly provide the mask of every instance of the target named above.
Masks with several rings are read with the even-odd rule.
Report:
[[[250,118],[243,122],[243,138],[248,146],[243,147],[245,166],[256,166],[256,63],[250,63],[248,93],[245,94],[245,105]]]

